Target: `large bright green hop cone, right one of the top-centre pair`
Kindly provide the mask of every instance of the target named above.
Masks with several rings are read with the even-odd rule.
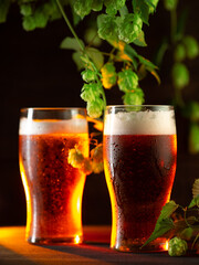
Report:
[[[143,20],[139,14],[128,13],[117,19],[118,39],[125,43],[134,42],[139,38],[143,28]]]

